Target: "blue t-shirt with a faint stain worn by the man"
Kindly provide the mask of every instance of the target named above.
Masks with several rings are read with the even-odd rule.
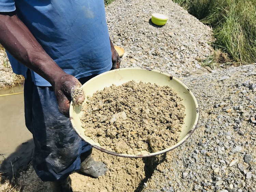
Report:
[[[109,71],[111,47],[103,0],[1,0],[0,12],[15,11],[46,53],[76,78]],[[16,74],[26,68],[9,53]],[[37,86],[51,86],[31,71]]]

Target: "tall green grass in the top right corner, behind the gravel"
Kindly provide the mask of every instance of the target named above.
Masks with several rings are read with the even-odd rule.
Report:
[[[256,62],[256,0],[174,0],[213,28],[214,47],[240,64]]]

